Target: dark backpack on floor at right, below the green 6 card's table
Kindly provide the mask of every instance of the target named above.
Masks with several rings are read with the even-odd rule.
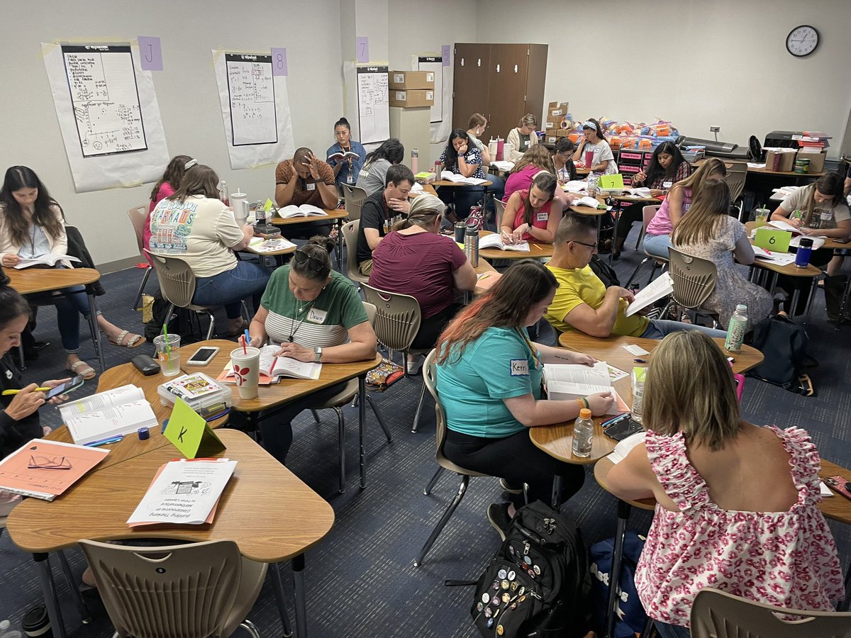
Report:
[[[807,330],[792,322],[784,312],[763,319],[753,329],[751,345],[762,352],[764,359],[748,376],[804,396],[814,396],[812,380],[803,373],[808,359],[808,342]]]

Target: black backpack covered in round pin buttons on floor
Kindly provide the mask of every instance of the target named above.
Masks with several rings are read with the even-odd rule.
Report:
[[[579,527],[535,501],[511,520],[500,550],[478,579],[470,613],[483,636],[584,636],[589,581]]]

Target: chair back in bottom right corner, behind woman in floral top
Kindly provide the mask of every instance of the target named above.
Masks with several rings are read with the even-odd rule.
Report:
[[[778,614],[797,616],[793,620]],[[848,638],[851,613],[808,612],[750,601],[707,587],[694,597],[692,638]]]

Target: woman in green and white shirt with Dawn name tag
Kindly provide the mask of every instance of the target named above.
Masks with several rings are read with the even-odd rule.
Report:
[[[382,242],[383,243],[383,242]],[[375,333],[357,288],[331,269],[334,240],[316,236],[272,273],[248,334],[250,345],[271,341],[279,356],[302,362],[348,363],[375,356]],[[302,410],[340,393],[346,382],[288,403],[274,419],[260,420],[263,445],[283,463],[293,442],[291,421]]]

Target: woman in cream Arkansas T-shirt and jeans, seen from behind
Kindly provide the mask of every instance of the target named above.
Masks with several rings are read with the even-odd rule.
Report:
[[[248,247],[254,236],[250,225],[237,225],[233,213],[219,199],[219,176],[203,164],[186,170],[174,195],[160,201],[151,213],[151,253],[186,261],[195,275],[192,303],[224,305],[229,337],[246,328],[240,316],[242,299],[260,295],[269,272],[250,261],[237,261],[234,251]]]

